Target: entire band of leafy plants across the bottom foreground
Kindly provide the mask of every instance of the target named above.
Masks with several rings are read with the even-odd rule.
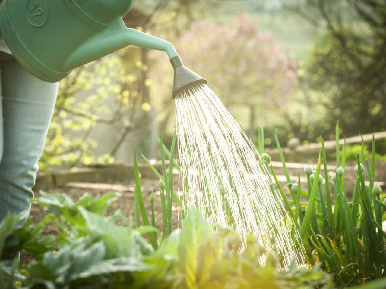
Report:
[[[241,252],[235,232],[213,231],[194,207],[187,212],[182,229],[165,236],[154,250],[141,235],[151,233],[151,229],[117,225],[111,218],[103,217],[103,210],[91,211],[90,203],[105,207],[110,200],[103,197],[92,200],[85,195],[75,203],[61,194],[36,198],[49,212],[47,217],[66,232],[66,241],[60,234],[56,236],[44,254],[34,255],[36,260],[20,268],[23,275],[0,263],[1,288],[331,287],[330,277],[317,266],[312,270],[293,266],[286,272],[280,271],[274,252],[262,266],[259,256],[264,250],[254,237],[250,237]],[[15,234],[15,230],[29,231],[30,224],[15,228],[19,219],[19,216],[8,217],[0,228],[10,228],[7,236]],[[46,224],[43,220],[37,227]],[[34,254],[24,246],[22,249]]]

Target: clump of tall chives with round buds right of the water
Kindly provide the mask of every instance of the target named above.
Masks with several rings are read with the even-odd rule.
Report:
[[[259,135],[261,135],[260,133]],[[357,177],[349,200],[345,188],[346,145],[340,158],[339,124],[336,125],[336,171],[332,177],[334,190],[330,192],[327,174],[327,160],[322,139],[316,171],[305,168],[307,183],[292,183],[286,168],[284,155],[275,135],[279,155],[291,197],[287,197],[271,166],[271,175],[278,187],[282,201],[288,210],[289,223],[293,232],[298,231],[308,262],[322,262],[322,269],[334,274],[338,286],[361,284],[367,280],[386,276],[386,234],[382,230],[386,198],[378,185],[374,184],[375,141],[372,142],[371,166],[364,159],[364,144],[357,154]],[[264,143],[259,141],[259,151]],[[324,169],[325,186],[323,188]],[[365,182],[365,167],[368,184]],[[332,193],[332,194],[331,194]],[[306,202],[301,201],[301,196]]]

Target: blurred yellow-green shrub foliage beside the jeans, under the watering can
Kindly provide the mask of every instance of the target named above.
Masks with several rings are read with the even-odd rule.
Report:
[[[95,148],[98,144],[88,135],[100,118],[98,114],[108,111],[104,105],[110,92],[107,86],[110,85],[110,78],[105,77],[108,66],[108,61],[87,64],[75,69],[59,83],[46,145],[39,160],[41,169],[58,165],[73,166],[79,162],[88,164],[93,160],[89,148]],[[75,99],[76,94],[97,86],[99,88],[85,99]]]

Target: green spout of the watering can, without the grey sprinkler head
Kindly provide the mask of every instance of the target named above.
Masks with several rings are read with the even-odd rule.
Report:
[[[95,34],[78,47],[68,57],[65,69],[72,70],[129,45],[164,51],[168,54],[169,59],[178,55],[170,42],[136,29],[127,28],[120,18],[115,25],[110,25],[105,31]]]

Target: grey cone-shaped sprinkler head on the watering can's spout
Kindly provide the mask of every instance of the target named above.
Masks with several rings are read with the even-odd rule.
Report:
[[[173,93],[172,98],[176,98],[177,94],[187,87],[190,87],[198,83],[207,83],[205,78],[202,78],[195,72],[188,69],[182,63],[181,57],[174,56],[170,59],[170,63],[174,68],[174,81],[173,81]]]

